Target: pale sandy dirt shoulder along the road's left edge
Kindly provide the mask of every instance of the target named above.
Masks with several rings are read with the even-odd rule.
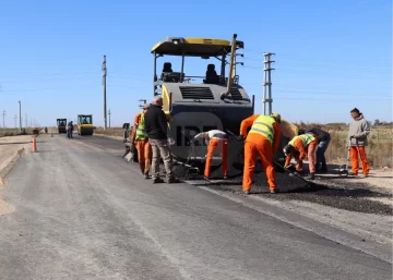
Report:
[[[13,207],[3,199],[4,176],[17,159],[31,150],[32,135],[0,137],[0,215],[13,211]]]

